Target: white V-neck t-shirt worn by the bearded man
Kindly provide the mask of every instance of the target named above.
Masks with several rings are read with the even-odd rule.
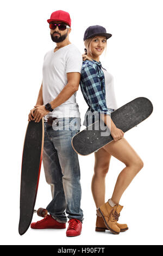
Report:
[[[82,69],[82,53],[78,48],[69,44],[56,52],[54,48],[45,54],[42,68],[42,97],[43,105],[53,101],[67,84],[69,72],[79,72]],[[45,115],[48,117],[80,117],[79,106],[76,102],[76,93],[60,106],[54,108],[53,112]]]

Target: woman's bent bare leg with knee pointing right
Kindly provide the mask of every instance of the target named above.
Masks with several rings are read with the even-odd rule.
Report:
[[[135,175],[142,169],[143,162],[124,137],[119,141],[112,141],[105,145],[103,149],[126,164],[126,167],[118,175],[114,192],[111,197],[112,201],[115,204],[118,204],[123,192],[134,179]]]

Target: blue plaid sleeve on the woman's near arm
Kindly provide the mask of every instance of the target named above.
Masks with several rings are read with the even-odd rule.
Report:
[[[96,68],[93,68],[91,65],[84,66],[82,68],[82,80],[86,89],[85,96],[93,111],[110,115]]]

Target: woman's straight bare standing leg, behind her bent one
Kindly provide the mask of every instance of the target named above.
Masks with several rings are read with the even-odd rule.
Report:
[[[105,176],[108,173],[111,155],[103,148],[95,153],[95,167],[92,177],[92,196],[96,208],[105,203]]]

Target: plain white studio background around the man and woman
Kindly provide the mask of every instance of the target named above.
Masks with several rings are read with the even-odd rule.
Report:
[[[3,1],[1,2],[1,239],[2,245],[159,245],[162,244],[162,1]],[[94,155],[79,156],[84,211],[82,234],[66,230],[32,230],[18,234],[21,160],[28,113],[36,103],[42,81],[43,57],[55,47],[47,19],[55,10],[72,19],[70,41],[81,53],[83,35],[91,25],[104,26],[108,40],[102,65],[114,76],[118,107],[139,96],[148,97],[154,111],[125,134],[144,167],[124,192],[120,235],[95,232],[96,207],[91,194]],[[87,109],[80,88],[82,117]],[[82,129],[84,126],[82,126]],[[106,200],[111,197],[124,164],[111,158],[106,176]],[[36,208],[51,200],[41,168]],[[34,215],[33,221],[41,218]],[[67,224],[68,227],[68,224]]]

